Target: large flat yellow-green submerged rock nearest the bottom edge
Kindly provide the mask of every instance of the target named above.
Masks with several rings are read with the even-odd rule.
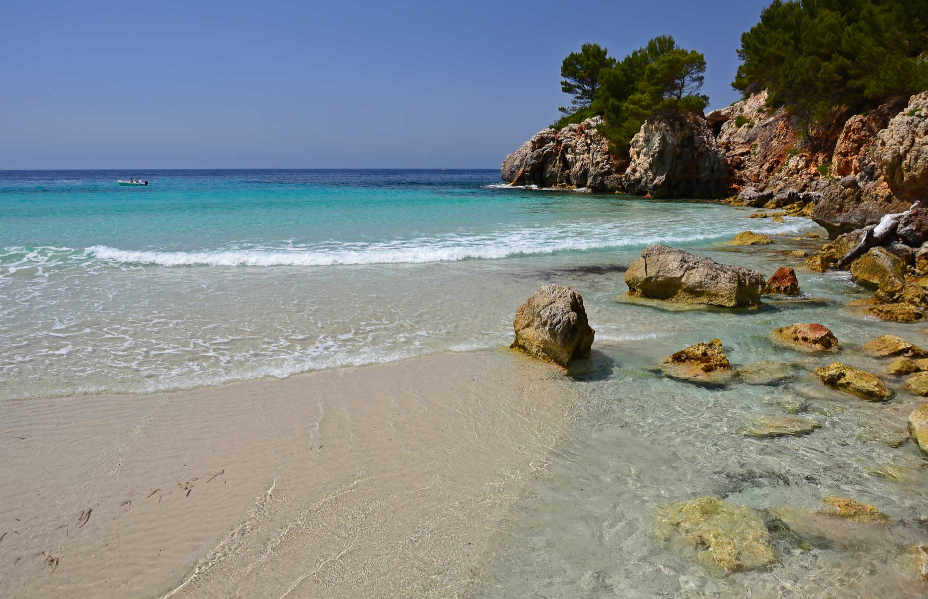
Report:
[[[658,506],[655,534],[696,550],[710,575],[728,576],[777,561],[770,532],[756,510],[717,497]]]

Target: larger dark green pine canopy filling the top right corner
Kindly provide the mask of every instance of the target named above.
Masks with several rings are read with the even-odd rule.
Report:
[[[806,126],[928,88],[925,0],[774,0],[741,34],[732,86]]]

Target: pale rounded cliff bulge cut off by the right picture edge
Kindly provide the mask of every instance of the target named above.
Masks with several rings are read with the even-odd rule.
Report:
[[[923,200],[928,189],[928,92],[909,98],[909,106],[877,134],[874,162],[890,189],[905,200]]]

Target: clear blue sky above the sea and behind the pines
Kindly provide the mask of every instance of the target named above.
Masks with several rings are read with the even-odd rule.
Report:
[[[497,168],[561,59],[670,33],[711,107],[766,0],[0,2],[0,169]]]

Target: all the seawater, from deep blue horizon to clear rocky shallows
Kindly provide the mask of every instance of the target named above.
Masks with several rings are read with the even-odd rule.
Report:
[[[491,554],[467,574],[469,591],[455,596],[924,595],[904,551],[928,541],[926,462],[909,442],[885,442],[904,434],[917,398],[902,377],[884,377],[891,400],[869,403],[809,372],[834,359],[882,372],[889,360],[859,345],[887,332],[928,338],[922,325],[844,307],[870,295],[846,274],[808,272],[777,254],[818,247],[795,239],[822,232],[810,221],[500,189],[489,171],[163,173],[135,195],[110,187],[125,176],[0,174],[0,397],[176,389],[499,347],[515,307],[559,282],[583,293],[595,351],[565,379],[576,397],[566,432],[533,449],[545,475],[506,511]],[[749,228],[774,243],[732,251],[727,241]],[[806,301],[743,310],[631,302],[624,269],[659,241],[767,276],[796,267]],[[770,330],[793,322],[828,326],[841,352],[770,343]],[[736,367],[787,362],[792,377],[708,389],[653,371],[715,337]],[[752,418],[796,405],[821,428],[741,434]],[[811,549],[778,534],[776,566],[713,579],[653,535],[658,505],[708,494],[759,510],[814,510],[840,495],[895,524],[835,523],[838,540]],[[290,566],[271,571],[295,574]]]

